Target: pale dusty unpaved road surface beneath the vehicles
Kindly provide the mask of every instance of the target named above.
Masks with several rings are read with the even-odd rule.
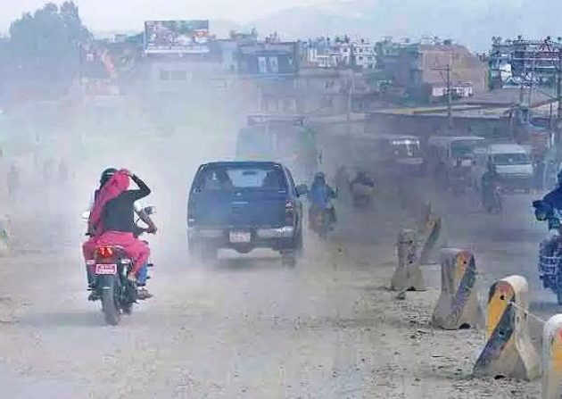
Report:
[[[481,237],[474,244],[492,277],[536,270],[530,261],[541,231],[533,224],[470,212],[450,218],[452,241]],[[87,303],[79,223],[56,239],[20,232],[20,251],[0,270],[3,397],[537,397],[537,383],[470,378],[481,333],[429,326],[438,268],[425,270],[430,289],[406,301],[385,289],[396,231],[409,222],[401,212],[342,211],[342,229],[329,244],[308,237],[294,270],[269,253],[190,264],[183,234],[162,229],[174,245],[162,246],[164,237],[154,245],[156,296],[117,328]],[[457,231],[459,223],[466,227]],[[496,237],[491,225],[519,226],[513,237],[525,242]],[[552,303],[530,280],[535,302]],[[481,297],[486,289],[482,283]]]

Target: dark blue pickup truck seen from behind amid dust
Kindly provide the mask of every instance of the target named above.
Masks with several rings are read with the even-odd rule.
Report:
[[[219,248],[271,248],[295,266],[302,249],[305,185],[278,162],[211,162],[195,174],[187,204],[189,252],[203,262]]]

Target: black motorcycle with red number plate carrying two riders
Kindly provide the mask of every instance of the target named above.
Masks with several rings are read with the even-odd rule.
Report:
[[[145,207],[144,211],[148,215],[155,213],[153,206]],[[87,219],[86,216],[89,217],[89,212],[83,214],[83,218]],[[138,226],[139,220],[136,220],[133,233],[136,238],[147,231]],[[87,267],[93,270],[94,275],[90,300],[101,300],[105,322],[111,326],[118,325],[121,313],[131,314],[137,300],[136,282],[127,278],[133,268],[132,260],[120,245],[98,245],[95,247],[95,258],[87,263]],[[147,267],[153,267],[153,263],[148,262]]]

